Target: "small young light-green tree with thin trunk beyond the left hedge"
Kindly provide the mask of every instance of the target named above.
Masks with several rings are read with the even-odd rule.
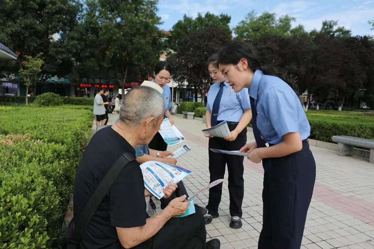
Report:
[[[28,104],[28,89],[36,84],[36,81],[39,79],[39,73],[42,71],[42,55],[43,53],[39,53],[35,57],[25,55],[24,61],[22,61],[23,68],[18,71],[19,76],[24,80],[26,86],[26,105]]]

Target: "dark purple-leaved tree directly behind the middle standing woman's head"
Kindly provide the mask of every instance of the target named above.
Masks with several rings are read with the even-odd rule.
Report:
[[[176,53],[170,58],[173,64],[172,77],[178,84],[188,82],[188,87],[194,88],[195,101],[198,93],[204,101],[205,93],[213,83],[206,61],[230,41],[231,31],[212,26],[191,32],[178,43]]]

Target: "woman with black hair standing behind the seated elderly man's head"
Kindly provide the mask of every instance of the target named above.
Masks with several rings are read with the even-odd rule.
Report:
[[[160,61],[154,67],[153,80],[152,82],[158,84],[162,90],[162,95],[165,98],[165,114],[164,118],[168,118],[171,125],[174,125],[174,119],[170,114],[169,109],[171,108],[171,93],[168,83],[170,82],[171,76],[171,65],[168,62]],[[168,144],[163,140],[159,132],[154,135],[152,141],[149,143],[149,148],[158,151],[165,151],[168,148]]]

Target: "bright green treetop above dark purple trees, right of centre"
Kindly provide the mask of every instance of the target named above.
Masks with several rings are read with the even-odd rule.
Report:
[[[249,12],[245,19],[234,28],[236,39],[246,40],[251,44],[260,42],[267,36],[290,37],[292,35],[306,34],[302,25],[292,28],[292,22],[296,21],[289,15],[280,16],[275,13],[264,12],[257,16],[254,11]]]

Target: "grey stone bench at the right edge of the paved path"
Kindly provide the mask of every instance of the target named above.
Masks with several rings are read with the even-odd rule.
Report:
[[[353,136],[332,136],[332,142],[338,143],[339,156],[350,156],[353,146],[370,149],[370,163],[374,163],[374,140],[355,138]]]

